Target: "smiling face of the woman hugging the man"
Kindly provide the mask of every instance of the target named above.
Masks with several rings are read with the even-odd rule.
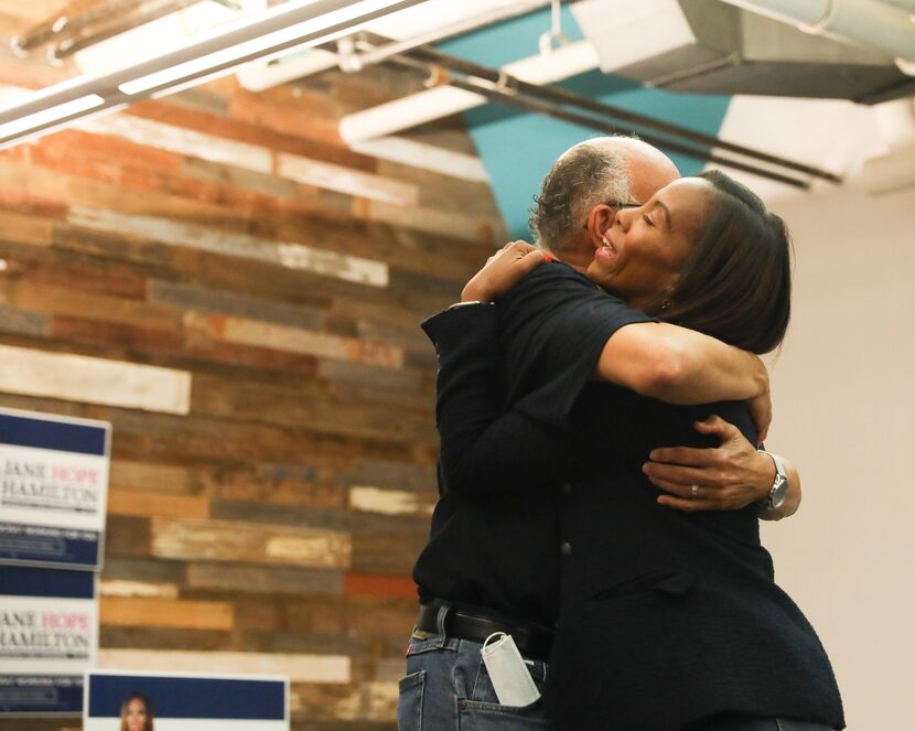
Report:
[[[620,211],[607,244],[594,251],[588,276],[632,308],[669,291],[692,250],[710,185],[698,178],[674,181],[642,207]]]

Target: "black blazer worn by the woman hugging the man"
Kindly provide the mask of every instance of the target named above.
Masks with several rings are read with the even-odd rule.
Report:
[[[692,429],[709,413],[755,440],[743,405],[672,407],[590,384],[568,430],[503,412],[493,318],[465,308],[424,324],[441,364],[442,472],[476,495],[556,493],[566,546],[545,691],[556,725],[676,731],[736,712],[843,728],[829,660],[774,582],[755,508],[675,512],[640,471],[654,447],[711,445]]]

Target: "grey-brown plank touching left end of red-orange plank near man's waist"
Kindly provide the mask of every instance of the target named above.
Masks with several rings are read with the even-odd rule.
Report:
[[[187,567],[187,585],[243,593],[337,596],[343,593],[343,574],[265,565],[192,563]]]

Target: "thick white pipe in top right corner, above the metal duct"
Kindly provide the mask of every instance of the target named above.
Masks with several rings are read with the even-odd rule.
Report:
[[[901,60],[915,61],[915,22],[897,0],[723,0],[724,2],[795,25],[805,33],[876,49]],[[907,73],[907,72],[906,72]]]

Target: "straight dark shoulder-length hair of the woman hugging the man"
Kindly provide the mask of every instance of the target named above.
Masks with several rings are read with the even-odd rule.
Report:
[[[699,178],[712,185],[699,240],[666,302],[661,320],[753,353],[778,346],[792,314],[790,237],[785,222],[724,173]]]

